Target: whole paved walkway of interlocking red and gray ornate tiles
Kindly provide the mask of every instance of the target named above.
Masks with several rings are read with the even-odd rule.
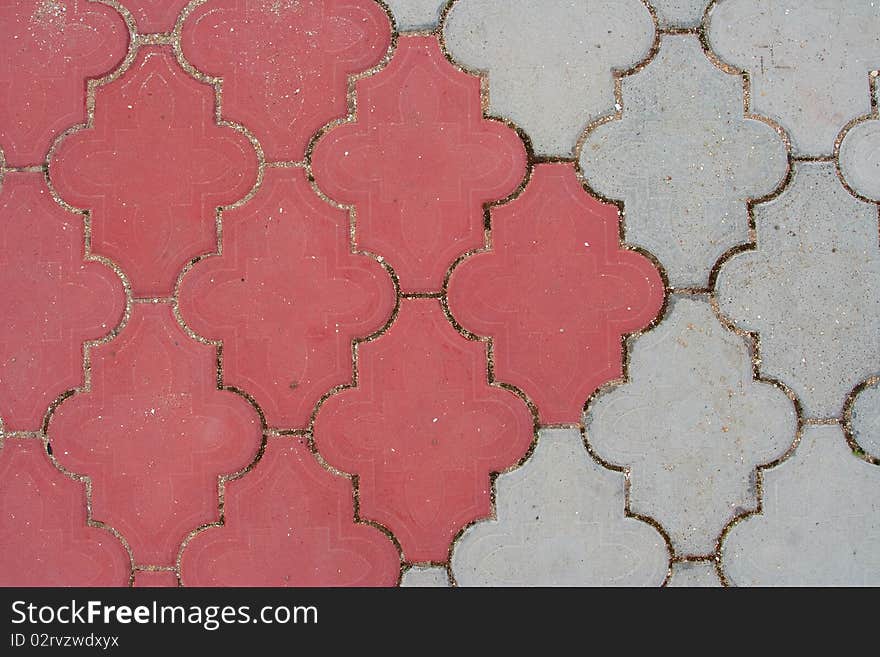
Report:
[[[0,584],[880,584],[880,2],[0,4]]]

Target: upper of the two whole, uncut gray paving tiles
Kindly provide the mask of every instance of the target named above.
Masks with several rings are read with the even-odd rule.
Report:
[[[625,202],[627,241],[657,256],[674,287],[706,287],[718,258],[749,240],[746,201],[785,178],[785,143],[744,117],[742,77],[716,68],[693,35],[664,37],[622,91],[623,118],[584,143],[584,175]]]

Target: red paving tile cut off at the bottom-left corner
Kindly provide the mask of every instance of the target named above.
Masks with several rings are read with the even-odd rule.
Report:
[[[83,485],[42,441],[0,442],[0,586],[128,586],[122,543],[87,522]]]

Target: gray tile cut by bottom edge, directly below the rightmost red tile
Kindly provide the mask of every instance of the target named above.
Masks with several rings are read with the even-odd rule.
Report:
[[[624,514],[624,477],[587,453],[575,429],[541,432],[535,453],[497,482],[497,520],[469,528],[452,570],[462,586],[657,586],[663,538]]]

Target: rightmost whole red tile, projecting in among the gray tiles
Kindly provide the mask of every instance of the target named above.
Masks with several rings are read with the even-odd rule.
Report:
[[[663,306],[663,280],[620,246],[618,210],[583,189],[571,164],[535,167],[492,210],[492,250],[449,281],[463,328],[494,341],[495,377],[523,390],[544,424],[580,422],[587,398],[623,373],[621,336]]]

